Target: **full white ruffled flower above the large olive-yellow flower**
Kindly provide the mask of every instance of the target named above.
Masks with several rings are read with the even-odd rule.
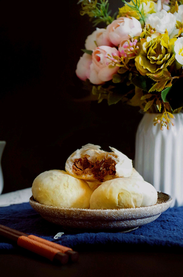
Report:
[[[170,38],[174,35],[176,17],[172,13],[167,13],[164,9],[157,13],[149,14],[145,20],[146,24],[150,24],[152,28],[156,29],[156,32],[164,34],[167,29]]]

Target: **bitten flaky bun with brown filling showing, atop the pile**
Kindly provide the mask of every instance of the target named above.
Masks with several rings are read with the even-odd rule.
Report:
[[[112,152],[100,148],[86,144],[77,149],[66,161],[66,172],[79,179],[99,182],[132,174],[132,161],[126,155],[110,146]]]

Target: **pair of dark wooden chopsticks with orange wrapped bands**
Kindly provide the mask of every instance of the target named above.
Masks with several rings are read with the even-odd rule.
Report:
[[[46,257],[49,260],[57,260],[61,264],[66,264],[69,259],[73,262],[78,260],[78,252],[73,251],[69,247],[34,235],[25,234],[1,224],[0,235],[17,242],[18,246]]]

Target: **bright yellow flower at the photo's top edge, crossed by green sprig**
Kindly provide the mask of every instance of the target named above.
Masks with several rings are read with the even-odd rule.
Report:
[[[155,10],[155,3],[151,0],[140,0],[140,11],[142,10],[142,5],[143,5],[143,11],[144,11],[144,16],[146,16],[148,13],[156,13]],[[133,2],[130,1],[129,5],[134,6]],[[137,11],[129,7],[127,4],[125,4],[122,8],[119,8],[119,15],[117,17],[122,17],[122,16],[130,16],[130,17],[135,17],[136,19],[140,19]]]

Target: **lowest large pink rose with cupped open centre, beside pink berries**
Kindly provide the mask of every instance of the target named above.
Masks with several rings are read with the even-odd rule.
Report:
[[[119,57],[118,50],[115,47],[99,46],[95,48],[92,53],[92,63],[90,65],[89,80],[91,83],[99,85],[113,78],[113,74],[117,73],[119,69],[118,66],[109,68],[109,64],[117,62],[113,56]]]

